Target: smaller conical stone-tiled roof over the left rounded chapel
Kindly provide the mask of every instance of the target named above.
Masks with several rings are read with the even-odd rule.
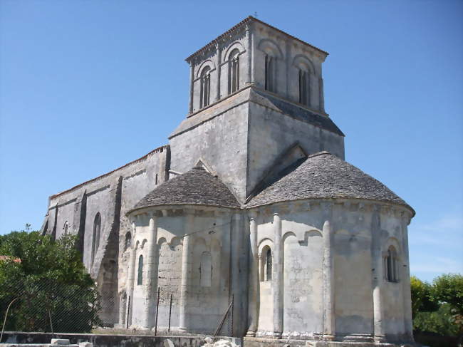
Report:
[[[194,167],[162,183],[137,202],[133,209],[170,204],[239,207],[239,203],[227,186],[202,167]]]

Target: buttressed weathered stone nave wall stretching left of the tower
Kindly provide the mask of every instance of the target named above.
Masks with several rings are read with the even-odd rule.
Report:
[[[101,316],[106,325],[118,322],[118,289],[124,288],[126,234],[130,222],[125,214],[136,202],[167,179],[170,148],[159,147],[113,172],[53,195],[49,199],[43,234],[56,238],[78,236],[83,262],[103,297]],[[100,216],[100,237],[95,239],[95,216]],[[97,247],[98,246],[98,247]]]

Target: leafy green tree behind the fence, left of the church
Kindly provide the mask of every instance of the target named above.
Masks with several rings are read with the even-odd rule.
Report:
[[[89,332],[100,324],[99,297],[74,247],[38,232],[0,236],[0,318],[16,298],[7,326],[15,331]],[[51,323],[50,323],[51,321]]]

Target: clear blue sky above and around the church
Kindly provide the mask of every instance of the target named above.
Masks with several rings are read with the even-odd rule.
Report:
[[[255,11],[331,53],[346,160],[416,209],[412,274],[463,272],[463,1],[0,1],[0,234],[166,144],[184,58]]]

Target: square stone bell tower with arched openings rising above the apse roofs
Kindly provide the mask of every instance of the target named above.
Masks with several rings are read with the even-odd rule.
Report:
[[[325,112],[327,56],[252,16],[193,53],[189,113],[169,138],[172,172],[201,160],[244,203],[298,157],[344,158],[344,134]]]

